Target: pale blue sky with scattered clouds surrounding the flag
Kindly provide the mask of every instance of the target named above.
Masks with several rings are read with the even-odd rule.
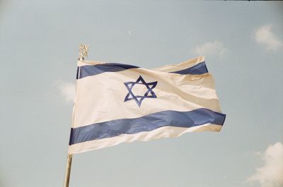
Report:
[[[0,186],[63,186],[79,44],[156,68],[205,56],[220,133],[73,157],[71,186],[283,186],[283,2],[0,0]]]

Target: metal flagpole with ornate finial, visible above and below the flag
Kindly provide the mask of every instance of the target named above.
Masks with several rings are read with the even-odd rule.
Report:
[[[88,56],[88,45],[80,44],[79,46],[79,61],[83,61],[84,57]],[[71,160],[73,155],[68,154],[67,157],[67,166],[65,171],[64,187],[69,187],[70,174],[71,174]]]

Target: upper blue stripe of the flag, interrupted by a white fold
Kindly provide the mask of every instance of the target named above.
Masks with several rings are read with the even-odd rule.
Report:
[[[86,65],[86,66],[79,66],[77,71],[76,79],[85,78],[88,76],[96,76],[100,73],[105,72],[116,72],[116,71],[124,71],[130,68],[139,68],[139,66],[132,66],[127,64],[117,64],[117,63],[106,63],[106,64],[97,64],[97,65]],[[185,68],[180,71],[173,71],[169,73],[178,73],[181,75],[201,75],[203,73],[208,73],[207,66],[205,62],[201,62],[192,66],[190,68]]]

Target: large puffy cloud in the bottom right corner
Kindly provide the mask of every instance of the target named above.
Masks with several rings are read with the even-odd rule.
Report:
[[[255,174],[248,178],[250,183],[258,182],[261,187],[283,186],[283,145],[270,145],[262,155],[264,165],[256,169]]]

